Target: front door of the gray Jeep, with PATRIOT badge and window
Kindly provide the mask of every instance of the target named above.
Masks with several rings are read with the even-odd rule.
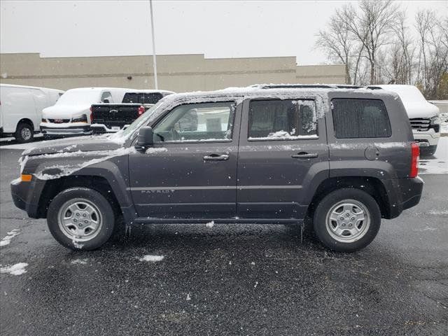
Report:
[[[182,104],[153,125],[153,147],[129,159],[139,217],[235,216],[240,110],[228,101]]]

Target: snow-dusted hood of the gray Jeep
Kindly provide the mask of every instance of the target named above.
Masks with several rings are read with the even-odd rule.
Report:
[[[22,155],[71,153],[78,151],[113,151],[121,147],[123,147],[123,145],[111,141],[108,135],[75,137],[52,141],[42,141],[36,147],[24,151]]]

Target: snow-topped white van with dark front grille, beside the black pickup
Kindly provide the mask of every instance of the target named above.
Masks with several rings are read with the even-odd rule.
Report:
[[[67,90],[57,101],[42,111],[43,137],[68,137],[91,134],[92,104],[121,103],[132,89],[118,87],[80,87]]]

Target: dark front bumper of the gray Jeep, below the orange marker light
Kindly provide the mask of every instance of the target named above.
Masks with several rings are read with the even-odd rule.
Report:
[[[42,181],[22,182],[15,179],[10,183],[15,207],[27,211],[31,218],[40,218],[38,201],[45,183]]]

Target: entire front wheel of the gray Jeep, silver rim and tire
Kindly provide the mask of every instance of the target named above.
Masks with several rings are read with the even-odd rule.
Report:
[[[109,240],[115,216],[106,198],[90,188],[69,188],[48,207],[48,228],[62,245],[73,250],[94,250]]]

